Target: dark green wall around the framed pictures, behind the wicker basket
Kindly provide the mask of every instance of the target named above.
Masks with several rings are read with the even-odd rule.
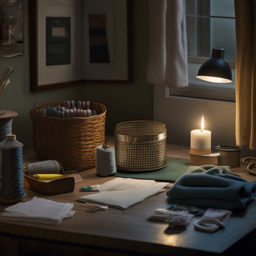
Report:
[[[24,55],[12,59],[0,57],[0,74],[8,66],[14,71],[0,95],[0,109],[12,110],[18,116],[12,120],[12,133],[24,148],[32,144],[32,124],[29,113],[35,106],[55,100],[85,100],[102,103],[107,108],[106,134],[113,135],[119,122],[153,119],[153,86],[146,82],[148,53],[147,0],[132,1],[133,82],[129,84],[84,83],[66,88],[31,92],[29,81],[29,15],[28,0],[24,0]]]

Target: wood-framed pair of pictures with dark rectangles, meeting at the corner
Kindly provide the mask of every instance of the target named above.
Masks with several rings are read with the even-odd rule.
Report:
[[[31,91],[132,82],[131,0],[29,0],[29,15]]]

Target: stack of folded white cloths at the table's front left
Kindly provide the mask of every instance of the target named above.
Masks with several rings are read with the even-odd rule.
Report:
[[[8,220],[59,225],[62,219],[73,217],[73,207],[70,203],[59,203],[34,196],[28,202],[20,202],[5,208],[1,217]]]

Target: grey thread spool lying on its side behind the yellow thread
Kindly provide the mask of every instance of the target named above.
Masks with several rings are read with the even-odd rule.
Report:
[[[56,160],[46,160],[26,165],[27,172],[34,174],[61,174],[61,165]]]

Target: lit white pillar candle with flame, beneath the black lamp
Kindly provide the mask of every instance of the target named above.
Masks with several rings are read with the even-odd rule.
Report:
[[[191,154],[211,153],[211,132],[204,130],[204,117],[202,117],[201,129],[192,130],[190,135]]]

